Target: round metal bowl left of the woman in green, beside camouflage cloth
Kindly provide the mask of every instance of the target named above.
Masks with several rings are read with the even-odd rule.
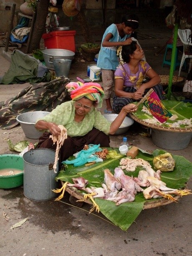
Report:
[[[16,120],[20,123],[27,138],[38,139],[42,135],[42,132],[35,128],[35,122],[37,119],[45,117],[49,113],[46,111],[26,112],[18,115]]]

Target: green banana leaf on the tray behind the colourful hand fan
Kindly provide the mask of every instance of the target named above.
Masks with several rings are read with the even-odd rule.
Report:
[[[184,103],[183,101],[167,101],[163,100],[162,101],[163,105],[165,108],[171,113],[171,114],[177,114],[178,118],[175,120],[167,120],[168,123],[172,124],[174,122],[177,122],[178,120],[183,120],[185,118],[190,119],[192,117],[192,104],[187,102]],[[152,114],[146,114],[142,110],[143,104],[141,104],[138,107],[138,110],[134,113],[132,113],[135,117],[138,119],[144,120],[148,118],[153,118]],[[159,126],[163,127],[169,127],[169,124],[161,124],[160,122],[158,123]],[[180,128],[186,127],[185,125],[180,125]]]

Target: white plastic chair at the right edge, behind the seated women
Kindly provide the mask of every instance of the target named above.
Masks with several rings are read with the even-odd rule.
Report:
[[[192,55],[190,55],[187,52],[187,47],[192,46],[192,38],[191,37],[189,38],[189,35],[191,35],[191,30],[190,29],[178,29],[178,35],[183,43],[183,56],[181,59],[181,64],[180,64],[179,74],[178,74],[178,76],[180,76],[181,68],[182,68],[182,65],[183,65],[185,59],[192,58]],[[191,63],[189,64],[189,70],[190,70],[190,68],[191,68]]]

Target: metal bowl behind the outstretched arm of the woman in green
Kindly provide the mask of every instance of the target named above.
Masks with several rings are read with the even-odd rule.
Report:
[[[103,115],[109,122],[113,122],[114,119],[118,116],[118,114],[104,114]],[[131,125],[134,123],[134,120],[131,117],[125,117],[123,123],[119,127],[119,129],[115,132],[114,135],[119,135],[127,132]]]

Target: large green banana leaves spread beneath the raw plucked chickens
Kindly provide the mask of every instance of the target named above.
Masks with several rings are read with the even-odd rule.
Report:
[[[111,148],[114,150],[114,148]],[[116,149],[118,151],[118,149]],[[164,154],[164,150],[155,150],[153,155],[142,150],[139,151],[137,158],[142,158],[150,163],[153,168],[153,157],[156,155]],[[124,156],[123,156],[124,157]],[[172,172],[164,172],[161,174],[162,181],[167,183],[170,188],[184,188],[187,180],[192,175],[192,163],[181,156],[174,155],[175,167]],[[114,174],[115,167],[119,166],[120,159],[108,159],[104,162],[99,162],[91,166],[73,167],[73,165],[65,166],[65,171],[58,173],[56,180],[63,180],[73,183],[72,178],[83,177],[88,180],[88,187],[101,187],[104,183],[104,169],[109,169]],[[127,172],[126,175],[138,177],[139,170],[142,167],[136,167],[134,172]],[[78,190],[82,193],[81,190]],[[150,201],[159,199],[150,199]],[[101,213],[108,218],[116,226],[119,226],[122,230],[126,231],[129,226],[135,221],[141,210],[144,208],[144,203],[149,201],[144,198],[143,193],[137,193],[134,202],[122,203],[118,206],[114,202],[104,200],[101,198],[95,198],[96,203],[99,205]]]

